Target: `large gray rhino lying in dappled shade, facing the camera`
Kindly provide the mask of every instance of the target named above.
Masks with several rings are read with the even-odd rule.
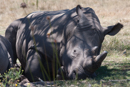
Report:
[[[85,79],[93,76],[107,55],[106,51],[99,54],[104,37],[117,34],[122,27],[117,23],[103,28],[93,9],[78,5],[72,10],[31,13],[11,23],[5,37],[30,81],[54,80],[61,66],[64,79]]]

